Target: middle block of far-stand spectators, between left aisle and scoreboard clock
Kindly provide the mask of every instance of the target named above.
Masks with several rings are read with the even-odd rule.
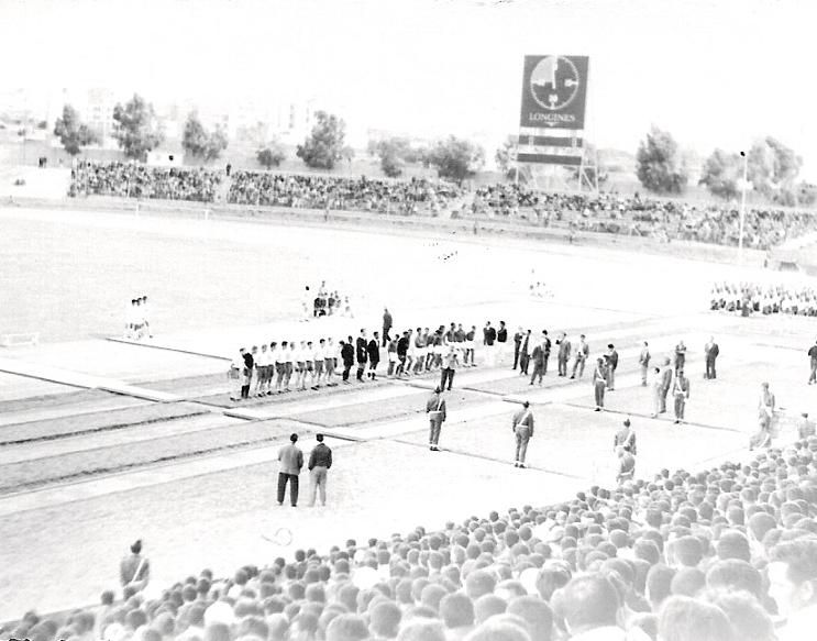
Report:
[[[365,176],[343,178],[235,172],[228,201],[308,209],[438,214],[463,191],[449,183],[426,179],[379,180]]]

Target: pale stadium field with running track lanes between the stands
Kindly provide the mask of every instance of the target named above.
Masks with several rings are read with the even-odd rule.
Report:
[[[0,619],[93,603],[117,587],[126,545],[145,541],[157,587],[205,566],[229,574],[296,548],[440,527],[492,509],[567,498],[612,480],[612,432],[631,416],[638,472],[717,464],[746,450],[758,387],[791,418],[815,405],[805,385],[813,319],[706,311],[714,280],[775,275],[662,256],[532,241],[294,228],[123,213],[0,209],[0,334],[42,344],[0,350]],[[528,295],[531,270],[554,292]],[[301,322],[305,285],[327,280],[354,318]],[[125,305],[151,300],[153,346],[120,336]],[[531,388],[510,369],[457,373],[443,451],[426,446],[434,377],[308,391],[234,407],[225,358],[271,340],[505,320],[588,336],[621,353],[609,411],[589,374],[549,372]],[[720,344],[702,380],[703,345]],[[637,354],[689,346],[688,424],[649,418]],[[551,358],[551,369],[555,357]],[[528,469],[512,466],[515,401],[534,406]],[[275,506],[276,453],[322,431],[335,450],[329,505]],[[308,483],[301,476],[302,495]],[[291,532],[292,541],[284,545]],[[276,534],[277,533],[277,534]],[[73,586],[66,590],[64,586]]]

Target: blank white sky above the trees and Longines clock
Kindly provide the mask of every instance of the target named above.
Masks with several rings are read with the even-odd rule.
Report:
[[[815,180],[816,18],[810,0],[0,0],[0,60],[4,88],[312,98],[352,132],[498,143],[525,55],[588,55],[598,146],[634,152],[652,124],[698,154],[769,134]]]

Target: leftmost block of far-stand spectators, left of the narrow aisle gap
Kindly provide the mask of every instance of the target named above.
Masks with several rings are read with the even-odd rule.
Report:
[[[220,172],[205,168],[82,161],[71,168],[68,195],[212,202],[221,180]]]

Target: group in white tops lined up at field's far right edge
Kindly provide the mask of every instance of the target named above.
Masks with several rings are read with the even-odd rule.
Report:
[[[713,286],[709,309],[749,316],[817,316],[817,291],[808,286],[722,283]]]

